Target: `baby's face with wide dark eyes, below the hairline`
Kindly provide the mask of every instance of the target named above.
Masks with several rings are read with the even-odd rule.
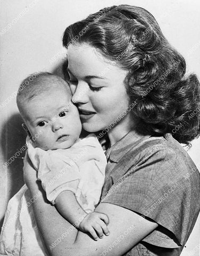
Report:
[[[36,146],[44,150],[69,148],[81,132],[78,109],[65,90],[31,99],[26,103],[24,118]]]

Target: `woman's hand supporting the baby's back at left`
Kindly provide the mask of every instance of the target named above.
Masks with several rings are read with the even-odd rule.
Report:
[[[30,190],[30,187],[36,184],[36,181],[37,181],[37,171],[34,169],[34,166],[32,166],[32,163],[30,161],[27,151],[23,159],[23,179],[27,187],[29,188],[29,190]]]

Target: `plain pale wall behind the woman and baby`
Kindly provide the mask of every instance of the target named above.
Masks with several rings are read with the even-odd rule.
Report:
[[[200,2],[198,0],[1,0],[0,59],[0,193],[3,218],[7,201],[23,184],[22,159],[5,162],[25,143],[15,93],[22,79],[35,71],[59,73],[64,58],[62,35],[66,26],[106,6],[130,4],[144,7],[159,22],[163,34],[184,55],[188,71],[200,78]],[[189,151],[200,166],[200,139]],[[22,151],[22,150],[21,150]],[[20,153],[20,157],[24,152]],[[200,169],[200,168],[199,168]],[[199,221],[182,256],[199,255]]]

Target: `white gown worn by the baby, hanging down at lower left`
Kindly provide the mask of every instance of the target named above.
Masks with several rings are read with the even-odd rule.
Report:
[[[38,180],[47,199],[55,198],[64,190],[71,190],[87,212],[93,212],[101,196],[105,178],[106,156],[95,134],[68,149],[43,150],[27,139],[28,154],[38,171]],[[36,225],[31,198],[26,185],[7,205],[2,233],[0,255],[48,256]]]

